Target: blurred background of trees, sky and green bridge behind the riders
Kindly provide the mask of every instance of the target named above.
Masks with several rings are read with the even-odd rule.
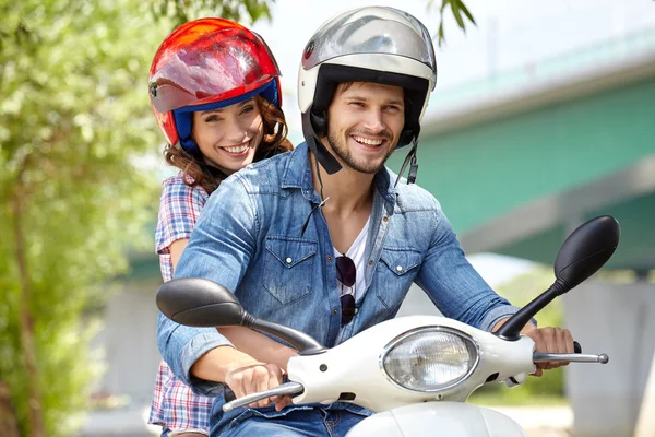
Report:
[[[0,0],[2,436],[157,434],[145,425],[160,359],[153,234],[171,169],[147,74],[163,38],[200,16],[252,25],[282,69],[298,144],[303,46],[366,4],[404,9],[434,36],[417,184],[500,294],[527,303],[572,229],[621,223],[608,265],[538,317],[609,364],[471,401],[531,436],[655,435],[654,1]],[[412,290],[400,315],[433,312]]]

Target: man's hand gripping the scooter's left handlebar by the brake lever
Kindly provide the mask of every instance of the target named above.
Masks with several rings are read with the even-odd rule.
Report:
[[[282,380],[282,369],[272,363],[253,363],[230,370],[225,376],[225,383],[235,392],[237,399],[273,389],[279,386]],[[267,398],[248,406],[269,406],[271,402],[275,403],[275,410],[281,411],[291,403],[291,398],[288,395]]]

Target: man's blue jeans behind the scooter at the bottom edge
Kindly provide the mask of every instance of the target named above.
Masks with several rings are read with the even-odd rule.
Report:
[[[216,404],[215,404],[216,405]],[[221,406],[218,406],[221,408]],[[332,410],[321,406],[293,406],[275,411],[265,409],[238,410],[228,414],[218,414],[214,422],[212,414],[211,437],[343,437],[360,421],[365,414],[348,410]]]

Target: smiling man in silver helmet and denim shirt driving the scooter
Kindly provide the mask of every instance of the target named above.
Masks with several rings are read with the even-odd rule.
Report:
[[[298,79],[307,143],[223,182],[176,277],[217,282],[255,317],[326,346],[394,317],[413,282],[444,316],[498,329],[516,308],[466,261],[437,200],[396,184],[384,167],[396,146],[412,144],[406,163],[415,177],[436,76],[429,33],[402,11],[362,8],[325,23],[306,46]],[[539,351],[573,350],[565,330],[524,332]],[[165,317],[158,340],[174,373],[201,393],[221,392],[217,382],[237,397],[275,387],[295,353],[245,328],[194,329]],[[218,398],[212,435],[344,435],[368,414],[273,401],[223,414]]]

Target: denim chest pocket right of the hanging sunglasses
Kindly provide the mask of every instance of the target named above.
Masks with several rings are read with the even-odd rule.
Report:
[[[397,309],[418,273],[422,256],[410,249],[382,248],[377,269],[378,298],[389,309]]]

